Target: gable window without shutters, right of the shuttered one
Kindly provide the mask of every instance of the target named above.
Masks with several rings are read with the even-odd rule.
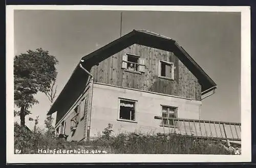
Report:
[[[159,61],[159,77],[174,79],[174,64],[172,62]]]

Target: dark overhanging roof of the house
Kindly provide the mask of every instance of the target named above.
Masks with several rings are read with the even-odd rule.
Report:
[[[175,56],[177,56],[199,80],[199,83],[202,86],[202,94],[211,90],[211,88],[216,87],[216,83],[175,40],[146,30],[133,30],[109,44],[102,46],[100,49],[88,54],[87,56],[82,57],[84,60],[83,67],[90,70],[93,65],[135,43],[173,52]],[[84,83],[87,82],[88,75],[79,67],[79,63],[73,71],[68,83],[62,89],[58,98],[51,106],[48,115],[58,110],[68,110],[84,89]]]

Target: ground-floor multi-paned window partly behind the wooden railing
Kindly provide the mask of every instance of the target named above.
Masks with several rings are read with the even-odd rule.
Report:
[[[177,118],[177,107],[162,106],[162,117]],[[177,121],[174,121],[173,119],[163,119],[162,125],[177,127]]]

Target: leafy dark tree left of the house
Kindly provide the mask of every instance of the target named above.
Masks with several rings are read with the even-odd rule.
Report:
[[[56,79],[55,65],[58,60],[41,48],[29,50],[14,58],[14,104],[20,109],[20,125],[25,126],[25,116],[28,110],[38,103],[34,98],[37,92],[47,92]]]

